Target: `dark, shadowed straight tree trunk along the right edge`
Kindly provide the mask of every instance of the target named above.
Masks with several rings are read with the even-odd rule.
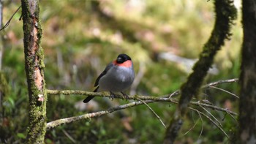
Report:
[[[239,143],[256,143],[256,1],[242,1],[244,42],[240,75]]]

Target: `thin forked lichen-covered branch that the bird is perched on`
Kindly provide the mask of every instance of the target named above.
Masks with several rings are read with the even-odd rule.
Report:
[[[203,88],[211,88],[211,86],[217,86],[217,85],[222,84],[222,83],[234,83],[234,82],[237,82],[237,81],[238,81],[237,78],[230,79],[230,80],[219,80],[219,81],[214,82],[214,83],[209,83],[209,84],[203,86]],[[83,95],[83,96],[111,97],[110,94],[107,93],[107,92],[94,93],[94,92],[89,92],[89,91],[74,91],[74,90],[63,90],[63,91],[47,90],[47,93],[49,95],[59,95],[59,94],[71,95],[71,94],[73,94],[73,95]],[[152,102],[171,102],[173,104],[178,104],[178,99],[172,98],[172,96],[177,96],[178,94],[179,94],[179,92],[175,91],[175,92],[173,92],[173,94],[166,94],[164,96],[138,96],[138,95],[135,95],[135,96],[128,96],[127,99],[135,99],[135,100],[136,99],[141,99],[146,104],[152,103]],[[123,99],[124,97],[122,95],[116,95],[116,98]],[[123,110],[123,109],[129,108],[129,107],[135,107],[137,105],[143,105],[144,104],[143,102],[141,102],[141,101],[139,101],[139,102],[130,102],[126,105],[119,105],[119,106],[116,106],[116,107],[111,107],[108,110],[102,110],[102,111],[95,112],[95,113],[87,113],[87,114],[84,114],[84,115],[78,115],[78,116],[74,116],[74,117],[70,117],[70,118],[61,118],[59,120],[49,122],[47,124],[47,128],[50,129],[50,128],[53,128],[55,126],[59,126],[61,124],[69,124],[73,121],[80,121],[82,119],[89,119],[89,118],[99,117],[101,115],[106,115],[108,113],[113,113],[114,111],[117,111],[117,110]],[[211,108],[212,110],[219,110],[219,111],[228,113],[230,115],[237,115],[237,113],[234,113],[231,110],[227,110],[225,108],[217,107],[217,106],[214,106],[214,105],[209,105],[207,103],[202,103],[200,101],[199,102],[190,102],[190,105],[195,105],[195,106],[198,106],[198,107],[208,107],[208,108]]]

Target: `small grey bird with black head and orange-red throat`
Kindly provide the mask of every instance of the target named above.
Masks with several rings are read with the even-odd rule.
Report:
[[[121,94],[127,96],[123,91],[132,85],[134,79],[135,71],[133,69],[132,58],[127,54],[120,54],[116,60],[108,64],[105,70],[97,77],[94,84],[97,88],[94,92],[110,91],[110,94],[113,96],[113,92],[121,92]],[[93,98],[94,96],[88,96],[83,102],[87,103]]]

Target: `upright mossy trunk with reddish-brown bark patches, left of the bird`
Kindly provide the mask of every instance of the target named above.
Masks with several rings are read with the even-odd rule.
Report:
[[[44,143],[46,131],[45,66],[40,46],[42,29],[39,0],[21,0],[25,69],[29,90],[29,127],[27,143]]]

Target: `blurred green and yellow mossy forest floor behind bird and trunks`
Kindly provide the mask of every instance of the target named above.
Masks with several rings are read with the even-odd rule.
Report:
[[[236,1],[239,15],[232,29],[233,37],[217,54],[206,83],[239,75],[240,3]],[[119,53],[127,53],[136,72],[135,83],[127,93],[170,94],[187,80],[214,25],[213,1],[206,0],[43,0],[39,5],[48,89],[93,91],[94,81],[105,66]],[[20,1],[4,1],[4,23],[18,7]],[[1,143],[22,143],[28,126],[29,96],[20,15],[21,10],[0,33],[4,37],[0,70],[9,86],[0,104]],[[238,93],[237,83],[222,84],[219,88]],[[48,96],[48,121],[127,103],[96,98],[83,104],[84,98]],[[202,91],[200,99],[238,112],[238,99],[219,89]],[[164,102],[149,105],[165,124],[176,109],[176,105]],[[233,118],[209,111],[227,134],[233,133],[237,126]],[[141,105],[48,129],[45,143],[161,143],[164,136],[165,128],[148,107]],[[202,122],[197,113],[189,111],[176,143],[227,143],[227,138],[206,118]]]

